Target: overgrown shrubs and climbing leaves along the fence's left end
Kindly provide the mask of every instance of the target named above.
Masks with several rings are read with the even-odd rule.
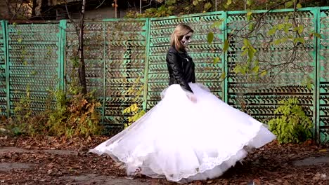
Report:
[[[18,31],[18,35],[20,32]],[[21,37],[18,43],[21,43]],[[27,65],[27,57],[31,56],[22,47],[21,61]],[[28,54],[28,55],[27,55]],[[46,53],[44,60],[51,58],[51,52]],[[49,90],[44,102],[44,109],[36,109],[36,102],[32,96],[33,90],[27,84],[24,95],[18,102],[14,102],[13,117],[4,121],[5,130],[13,135],[52,135],[56,137],[89,137],[101,133],[102,125],[99,107],[94,92],[85,93],[85,84],[79,83],[79,56],[75,55],[70,62],[73,69],[67,90],[54,88]],[[37,71],[32,71],[37,76]],[[33,99],[34,98],[34,99]]]

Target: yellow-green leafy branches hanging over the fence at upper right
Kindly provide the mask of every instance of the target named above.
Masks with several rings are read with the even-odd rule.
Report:
[[[235,3],[235,1],[227,0],[226,6],[233,6]],[[233,30],[231,30],[228,38],[224,40],[221,55],[229,52],[228,49],[231,41],[236,42],[243,40],[241,53],[239,53],[238,56],[240,57],[240,62],[235,64],[233,72],[246,76],[248,81],[269,81],[269,78],[271,77],[267,76],[267,74],[277,76],[277,73],[283,71],[282,69],[297,65],[293,64],[293,62],[295,62],[297,51],[306,43],[305,39],[307,39],[307,37],[305,35],[309,34],[310,39],[314,36],[321,38],[321,34],[314,31],[309,32],[309,30],[304,29],[304,26],[295,20],[295,13],[293,12],[288,13],[280,24],[269,25],[262,20],[266,18],[266,13],[254,13],[251,11],[251,9],[255,7],[253,1],[245,1],[245,3],[246,6],[250,8],[245,14],[245,26],[243,26],[242,29],[233,28]],[[284,5],[285,2],[276,1],[277,6],[275,7],[280,8],[280,4]],[[297,1],[295,0],[288,1],[288,5],[289,4],[292,4],[295,8],[302,7],[302,5],[297,4]],[[212,28],[217,27],[220,29],[219,25],[221,23],[222,22],[214,22]],[[266,25],[266,29],[268,29],[267,35],[259,33],[260,29],[264,29],[264,25]],[[214,41],[214,36],[214,30],[211,30],[207,34],[207,42],[209,44],[212,44]],[[268,42],[259,43],[257,41],[258,39],[268,40]],[[289,59],[287,61],[282,61],[282,63],[276,64],[272,61],[264,61],[264,59],[262,59],[262,63],[260,64],[259,60],[261,60],[261,57],[259,56],[259,51],[261,53],[263,50],[271,51],[272,48],[278,48],[281,47],[281,45],[292,45],[292,54],[288,57]],[[217,64],[217,62],[219,62],[219,57],[216,56],[214,57],[213,63]],[[307,88],[311,88],[311,83],[309,83],[307,76],[304,77],[304,81],[307,81],[304,84],[307,85]]]

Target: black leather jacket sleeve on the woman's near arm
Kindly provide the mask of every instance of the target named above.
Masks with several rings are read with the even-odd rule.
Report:
[[[193,93],[193,90],[191,89],[190,85],[186,82],[186,80],[183,78],[183,70],[181,69],[181,65],[179,64],[179,57],[173,52],[168,53],[168,64],[172,68],[172,74],[175,78],[175,80],[181,85],[181,88],[184,90],[187,90],[191,93]]]

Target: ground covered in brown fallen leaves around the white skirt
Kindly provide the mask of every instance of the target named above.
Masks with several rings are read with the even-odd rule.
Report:
[[[0,137],[0,184],[176,184],[127,178],[108,156],[87,151],[108,137]],[[312,142],[272,142],[252,151],[223,176],[190,184],[329,184],[329,150]]]

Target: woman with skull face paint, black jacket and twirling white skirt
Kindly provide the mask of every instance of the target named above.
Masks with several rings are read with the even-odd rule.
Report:
[[[178,25],[167,53],[169,88],[162,100],[129,128],[96,146],[123,163],[127,174],[188,182],[219,177],[276,137],[262,123],[230,107],[195,83],[195,64],[186,53],[193,29]]]

